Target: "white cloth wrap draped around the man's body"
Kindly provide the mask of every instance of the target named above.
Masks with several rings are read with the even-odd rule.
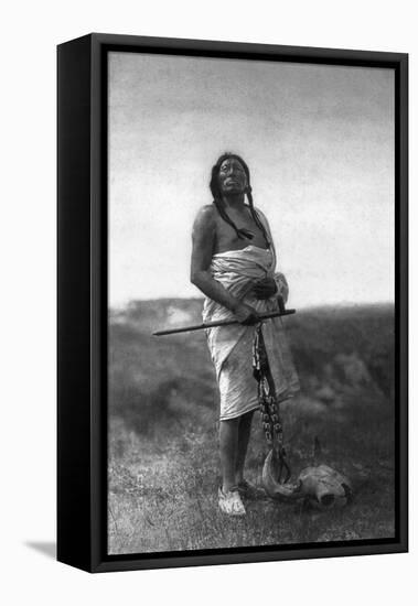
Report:
[[[267,300],[256,299],[248,291],[254,282],[266,277],[275,278],[278,294],[287,300],[287,282],[281,273],[275,274],[276,253],[269,249],[247,246],[243,250],[228,250],[213,256],[212,275],[243,303],[257,312],[278,310],[277,294]],[[234,318],[226,307],[206,299],[203,321]],[[253,339],[255,326],[234,324],[206,329],[207,344],[215,365],[221,393],[221,420],[240,416],[258,408],[257,381],[253,376]],[[267,320],[262,327],[266,350],[275,381],[278,400],[291,398],[299,390],[298,376],[285,336],[281,317]]]

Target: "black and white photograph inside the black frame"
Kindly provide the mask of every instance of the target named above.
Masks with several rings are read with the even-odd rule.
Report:
[[[107,62],[108,554],[394,540],[395,69]]]

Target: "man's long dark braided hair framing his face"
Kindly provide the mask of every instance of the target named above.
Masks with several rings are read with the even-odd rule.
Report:
[[[244,160],[235,153],[226,152],[226,153],[222,154],[221,158],[217,159],[216,164],[212,167],[212,176],[211,176],[210,187],[211,187],[211,192],[212,192],[212,195],[213,195],[213,203],[216,206],[217,212],[219,213],[219,215],[224,219],[224,221],[226,221],[228,225],[231,225],[231,227],[235,230],[238,238],[240,238],[242,240],[244,240],[244,239],[251,240],[254,238],[254,234],[251,234],[248,229],[238,229],[237,226],[235,225],[235,223],[232,220],[232,218],[228,216],[228,214],[225,210],[225,204],[224,204],[224,201],[222,199],[222,193],[221,193],[221,188],[219,188],[219,170],[221,170],[222,163],[225,162],[225,160],[237,160],[239,162],[239,164],[243,166],[244,172],[247,176],[247,187],[246,187],[245,193],[247,194],[247,198],[248,198],[249,212],[251,213],[251,216],[253,216],[256,225],[261,230],[266,242],[268,242],[269,239],[268,239],[268,236],[267,236],[267,232],[266,232],[266,228],[262,225],[262,223],[261,223],[261,220],[258,216],[257,210],[254,208],[251,185],[249,183],[249,169],[248,169],[246,162],[244,162]]]

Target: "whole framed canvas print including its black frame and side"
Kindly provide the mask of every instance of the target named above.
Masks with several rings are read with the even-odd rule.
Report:
[[[407,55],[57,57],[58,560],[407,551]]]

